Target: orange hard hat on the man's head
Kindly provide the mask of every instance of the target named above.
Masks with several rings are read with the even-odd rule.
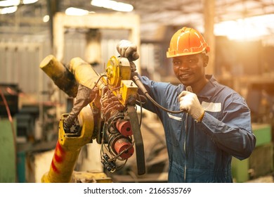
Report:
[[[202,34],[190,27],[183,27],[171,38],[167,58],[188,56],[203,51],[209,52],[209,46]]]

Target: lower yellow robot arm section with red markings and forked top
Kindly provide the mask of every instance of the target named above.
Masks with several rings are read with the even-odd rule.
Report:
[[[71,136],[65,133],[63,114],[59,122],[58,142],[51,161],[51,167],[41,178],[44,183],[68,183],[72,180],[72,173],[77,162],[81,147],[93,139],[93,115],[89,106],[84,107],[79,113],[80,136]],[[94,137],[96,138],[96,136]]]

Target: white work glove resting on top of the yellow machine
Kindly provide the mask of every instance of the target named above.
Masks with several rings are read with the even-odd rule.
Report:
[[[136,44],[133,44],[129,40],[122,39],[116,48],[122,58],[128,58],[129,61],[136,61],[139,58]]]

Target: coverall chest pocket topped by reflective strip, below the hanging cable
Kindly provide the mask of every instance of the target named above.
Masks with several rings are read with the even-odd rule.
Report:
[[[178,146],[179,141],[181,139],[181,133],[182,133],[182,126],[185,122],[182,115],[175,115],[168,113],[169,117],[167,120],[168,122],[168,129],[167,129],[167,142],[169,144],[172,144],[173,146]]]

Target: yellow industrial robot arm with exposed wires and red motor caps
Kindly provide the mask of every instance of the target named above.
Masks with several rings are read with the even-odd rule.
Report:
[[[75,98],[72,111],[61,115],[51,167],[41,182],[71,182],[81,147],[93,140],[102,145],[101,162],[109,172],[123,166],[118,166],[117,160],[125,163],[136,153],[138,175],[145,174],[136,112],[138,87],[131,80],[136,74],[134,63],[112,56],[105,72],[98,74],[81,58],[72,58],[63,65],[50,55],[41,61],[40,68]]]

